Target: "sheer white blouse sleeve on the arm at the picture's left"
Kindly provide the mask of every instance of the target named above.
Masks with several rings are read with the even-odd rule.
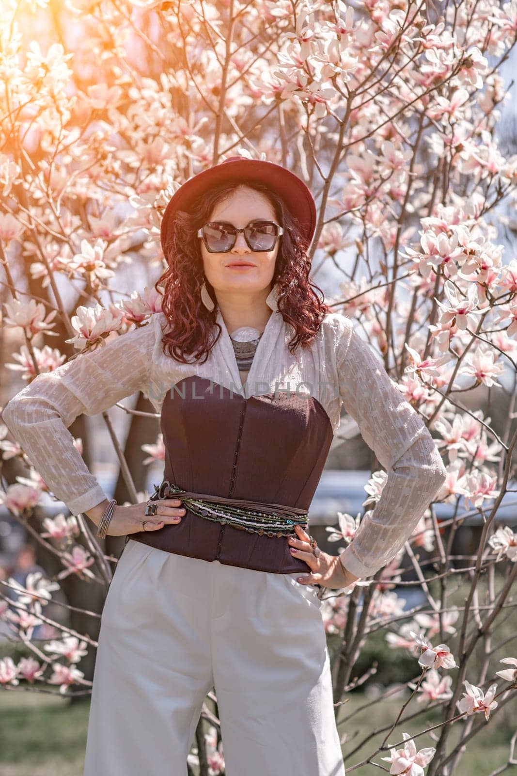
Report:
[[[153,317],[53,372],[42,372],[2,411],[12,436],[72,514],[88,511],[107,496],[74,446],[68,427],[80,414],[105,411],[136,390],[146,393],[155,340]]]

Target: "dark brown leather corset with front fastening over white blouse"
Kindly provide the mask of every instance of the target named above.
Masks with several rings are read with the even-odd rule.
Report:
[[[164,480],[182,490],[307,511],[333,439],[329,417],[314,397],[279,391],[246,399],[199,376],[167,390],[160,426]],[[287,537],[240,531],[189,510],[177,525],[129,539],[259,571],[309,571],[291,555]]]

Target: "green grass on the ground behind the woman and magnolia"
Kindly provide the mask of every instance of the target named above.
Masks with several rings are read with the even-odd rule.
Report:
[[[343,723],[338,722],[339,734],[346,740],[343,751],[355,749],[357,743],[365,736],[366,731],[385,726],[395,719],[401,701],[381,702],[357,712],[344,721],[351,712],[364,705],[362,695],[351,694],[350,700],[342,707]],[[513,705],[513,704],[512,704]],[[66,698],[53,695],[43,695],[36,692],[2,691],[0,695],[0,773],[2,776],[82,776],[84,747],[88,728],[89,702],[70,705]],[[410,707],[410,711],[412,707]],[[416,706],[415,709],[416,710]],[[515,708],[514,708],[515,711]],[[408,723],[396,729],[388,742],[402,740],[402,730],[417,733],[423,727],[439,718],[433,712],[422,715],[416,722]],[[460,728],[458,727],[458,732]],[[375,736],[363,750],[353,754],[346,765],[352,765],[364,759],[378,743],[382,735]],[[467,747],[460,767],[454,776],[470,776],[477,772],[487,776],[495,767],[505,764],[508,759],[508,742],[510,733],[506,726],[501,726],[494,720],[488,722],[483,730]],[[453,730],[451,740],[457,740]],[[418,747],[433,746],[430,736],[417,739]],[[385,753],[388,754],[388,753]],[[374,761],[386,767],[390,765],[377,755]],[[368,764],[353,771],[358,776],[370,776],[382,771]],[[100,776],[100,774],[99,774]],[[165,774],[164,774],[165,776]],[[278,774],[281,776],[281,774]]]

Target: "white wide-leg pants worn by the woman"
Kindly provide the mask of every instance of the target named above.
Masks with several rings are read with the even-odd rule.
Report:
[[[84,776],[186,776],[215,689],[226,776],[345,776],[316,588],[129,539],[102,612]]]

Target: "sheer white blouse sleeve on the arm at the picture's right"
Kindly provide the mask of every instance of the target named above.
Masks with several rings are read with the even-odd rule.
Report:
[[[446,478],[426,424],[391,381],[370,346],[346,321],[338,341],[339,396],[388,478],[373,510],[364,514],[341,553],[356,577],[371,577],[412,535]]]

